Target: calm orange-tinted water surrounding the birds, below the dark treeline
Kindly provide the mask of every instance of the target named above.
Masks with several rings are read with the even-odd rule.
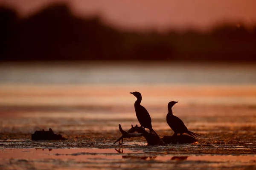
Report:
[[[1,63],[0,169],[255,169],[256,64]],[[159,136],[167,104],[198,143],[125,139],[140,91]],[[35,130],[67,141],[32,142]],[[44,150],[43,150],[44,149]]]

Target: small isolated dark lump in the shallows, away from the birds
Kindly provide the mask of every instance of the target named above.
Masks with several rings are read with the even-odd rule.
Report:
[[[32,140],[66,140],[60,134],[54,134],[51,128],[49,131],[36,130],[34,134],[31,135]]]

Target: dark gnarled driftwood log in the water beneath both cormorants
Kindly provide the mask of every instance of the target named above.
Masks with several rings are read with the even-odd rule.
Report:
[[[148,133],[143,127],[139,127],[138,125],[136,126],[131,125],[131,129],[129,129],[127,132],[122,130],[121,125],[119,125],[119,130],[122,133],[122,136],[119,139],[117,139],[116,142],[120,140],[123,141],[124,138],[131,138],[131,137],[137,137],[137,136],[143,136],[148,142],[148,145],[166,145],[166,144],[177,144],[177,143],[185,144],[185,143],[197,142],[195,138],[188,135],[164,136],[163,138],[160,138],[158,135]],[[119,144],[122,144],[122,142],[121,143],[119,142]]]

